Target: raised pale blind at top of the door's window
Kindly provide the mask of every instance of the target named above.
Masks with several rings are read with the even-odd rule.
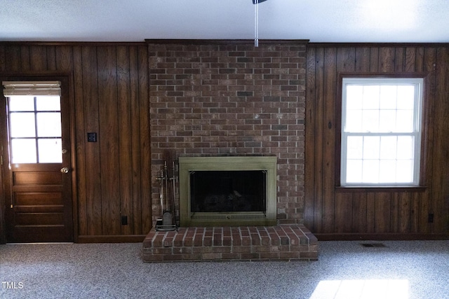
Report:
[[[61,95],[60,81],[4,81],[3,94],[13,95]]]

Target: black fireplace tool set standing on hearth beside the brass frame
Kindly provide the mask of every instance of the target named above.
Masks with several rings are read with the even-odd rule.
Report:
[[[161,170],[161,176],[156,177],[161,183],[161,213],[162,218],[156,220],[156,230],[176,230],[175,224],[175,162],[173,162],[172,176],[168,176],[167,161],[165,162],[163,169]],[[170,208],[170,192],[169,186],[172,188],[172,202]]]

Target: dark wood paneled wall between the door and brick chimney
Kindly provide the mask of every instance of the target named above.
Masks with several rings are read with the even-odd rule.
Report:
[[[146,43],[0,43],[0,72],[72,79],[75,239],[146,235],[152,227]],[[87,132],[96,132],[98,142],[88,143]]]

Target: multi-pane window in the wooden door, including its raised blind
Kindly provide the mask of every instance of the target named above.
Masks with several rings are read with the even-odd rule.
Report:
[[[12,163],[62,162],[59,82],[4,82]]]

